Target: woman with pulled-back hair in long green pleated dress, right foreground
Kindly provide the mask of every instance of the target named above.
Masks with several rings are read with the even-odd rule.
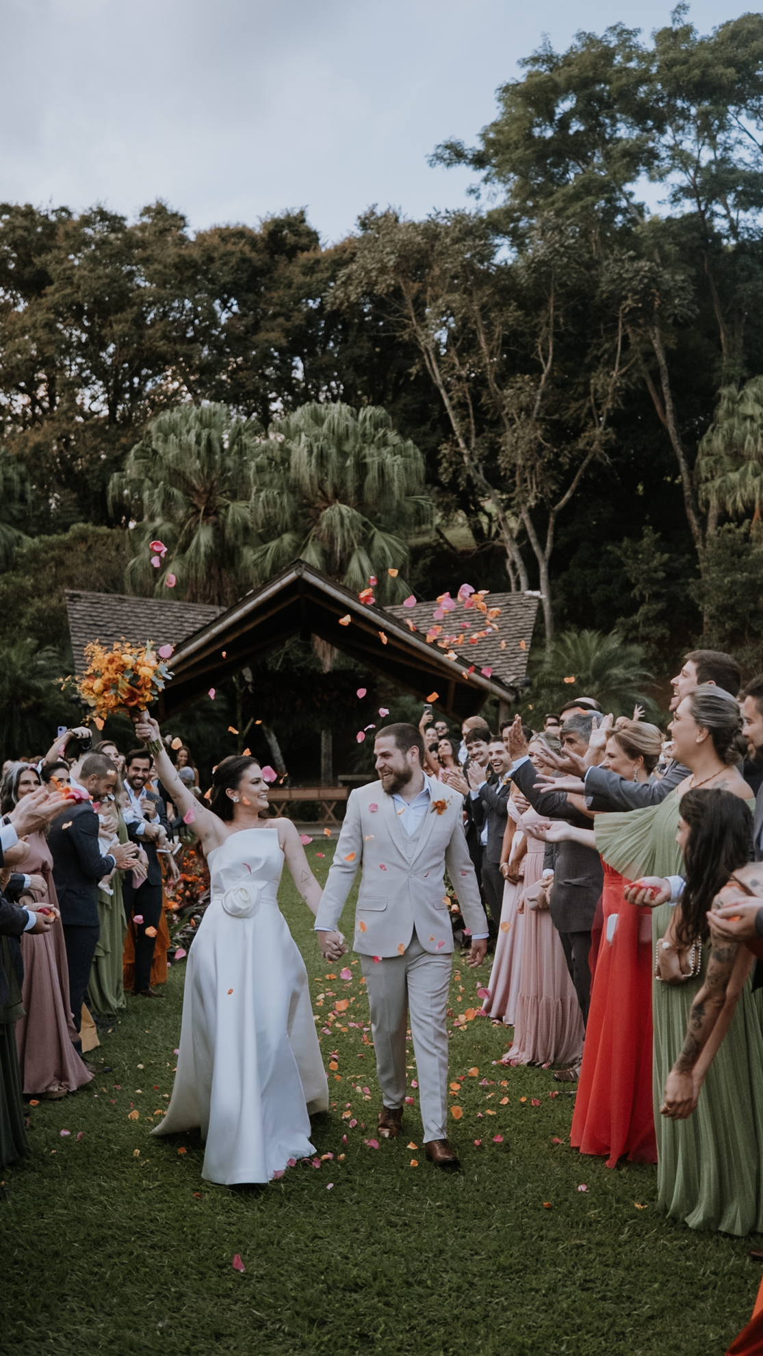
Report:
[[[752,803],[736,766],[744,753],[741,712],[728,692],[710,685],[695,687],[680,701],[671,732],[675,758],[690,770],[684,782],[657,805],[598,815],[595,820],[602,857],[637,884],[642,877],[686,873],[680,848],[684,839],[676,838],[686,792],[720,789]],[[678,984],[656,980],[653,986],[655,1089],[660,1098],[682,1048],[706,964],[701,937],[694,938],[691,946],[683,945],[679,937],[676,949],[675,928],[680,915],[674,922],[672,918],[668,903],[655,907],[652,940],[657,944],[660,975],[678,979],[678,964],[683,975]],[[763,1085],[758,1086],[756,1081],[758,1075],[763,1079],[763,1051],[758,1045],[760,1021],[749,984],[739,998],[733,1028],[737,1035],[724,1040],[707,1073],[707,1096],[701,1100],[698,1117],[674,1121],[656,1116],[657,1208],[690,1229],[747,1234],[763,1227],[763,1135],[758,1124],[763,1116]],[[720,1146],[726,1140],[732,1147],[736,1144],[736,1124],[743,1135],[754,1127],[754,1149],[747,1157],[735,1151],[733,1163],[724,1176],[720,1166],[726,1165],[726,1154]]]

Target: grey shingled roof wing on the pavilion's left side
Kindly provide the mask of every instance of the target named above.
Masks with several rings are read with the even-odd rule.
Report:
[[[179,645],[224,612],[171,598],[133,598],[130,594],[79,593],[66,589],[66,614],[77,674],[84,671],[84,651],[91,640],[112,645],[115,640],[145,640]]]

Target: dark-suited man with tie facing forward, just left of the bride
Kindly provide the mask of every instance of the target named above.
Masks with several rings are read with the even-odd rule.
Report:
[[[127,805],[125,824],[131,842],[138,843],[146,857],[145,879],[136,885],[134,875],[122,881],[125,918],[136,926],[136,974],[134,994],[141,998],[161,998],[150,984],[154,938],[159,930],[163,907],[163,873],[157,846],[161,834],[169,838],[169,824],[164,801],[156,792],[146,788],[152,772],[152,758],[145,749],[133,749],[125,759],[125,791]]]

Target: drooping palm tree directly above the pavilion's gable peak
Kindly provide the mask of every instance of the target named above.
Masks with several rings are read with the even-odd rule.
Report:
[[[302,405],[255,445],[251,475],[259,580],[300,556],[348,589],[375,576],[381,601],[407,597],[407,538],[431,522],[432,502],[421,453],[385,410]]]

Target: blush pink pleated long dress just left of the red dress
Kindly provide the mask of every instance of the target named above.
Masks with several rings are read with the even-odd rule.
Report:
[[[523,823],[541,816],[529,810]],[[527,837],[524,887],[541,879],[545,845]],[[514,1045],[506,1055],[512,1064],[568,1064],[583,1051],[583,1017],[569,978],[558,933],[548,909],[524,906]]]

